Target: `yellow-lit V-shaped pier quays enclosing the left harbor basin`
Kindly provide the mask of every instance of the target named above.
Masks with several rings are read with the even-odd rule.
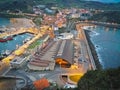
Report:
[[[42,38],[45,34],[49,34],[48,32],[50,32],[50,31],[52,31],[52,29],[50,29],[49,26],[44,26],[40,30],[38,30],[37,28],[21,28],[18,31],[12,31],[10,33],[6,32],[6,33],[0,34],[0,38],[3,38],[5,36],[9,36],[9,35],[18,35],[18,34],[22,34],[22,33],[33,33],[35,35],[31,40],[29,40],[28,42],[26,42],[25,44],[20,46],[18,49],[14,50],[12,52],[12,54],[10,54],[9,56],[7,56],[6,58],[1,60],[1,62],[0,62],[0,70],[1,70],[0,75],[5,75],[9,71],[10,62],[15,57],[18,57],[18,56],[24,54],[25,51],[27,50],[27,48],[29,47],[29,45],[31,45],[36,40]]]

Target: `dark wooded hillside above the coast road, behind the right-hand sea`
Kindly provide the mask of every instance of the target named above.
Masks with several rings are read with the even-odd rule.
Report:
[[[93,15],[90,20],[120,24],[120,11],[105,11]]]

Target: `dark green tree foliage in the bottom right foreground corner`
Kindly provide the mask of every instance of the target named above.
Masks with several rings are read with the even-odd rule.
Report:
[[[78,82],[78,90],[120,90],[120,68],[88,71]]]

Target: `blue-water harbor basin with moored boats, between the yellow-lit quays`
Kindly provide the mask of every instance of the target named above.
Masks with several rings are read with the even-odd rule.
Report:
[[[25,44],[25,41],[29,38],[33,38],[32,34],[25,33],[12,37],[12,40],[0,42],[1,56],[10,55],[15,49],[18,49],[21,45]]]

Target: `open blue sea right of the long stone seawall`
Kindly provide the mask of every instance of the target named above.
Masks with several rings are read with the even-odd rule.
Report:
[[[120,66],[120,29],[97,26],[90,33],[103,68]]]

